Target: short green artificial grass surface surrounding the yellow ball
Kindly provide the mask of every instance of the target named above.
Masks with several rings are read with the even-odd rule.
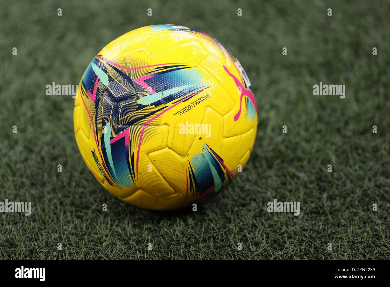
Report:
[[[0,259],[389,259],[390,4],[168,3],[0,4],[0,201],[32,201],[31,216],[0,214]],[[243,174],[196,212],[142,210],[105,191],[78,152],[74,100],[45,94],[78,84],[112,39],[160,23],[221,41],[259,107]],[[319,82],[346,84],[346,98],[313,96]],[[274,198],[300,201],[301,215],[268,213]]]

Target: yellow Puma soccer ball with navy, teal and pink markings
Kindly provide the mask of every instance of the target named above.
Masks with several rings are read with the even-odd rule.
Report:
[[[252,151],[257,107],[241,64],[199,30],[152,25],[113,40],[90,62],[74,133],[97,181],[145,209],[221,192]]]

